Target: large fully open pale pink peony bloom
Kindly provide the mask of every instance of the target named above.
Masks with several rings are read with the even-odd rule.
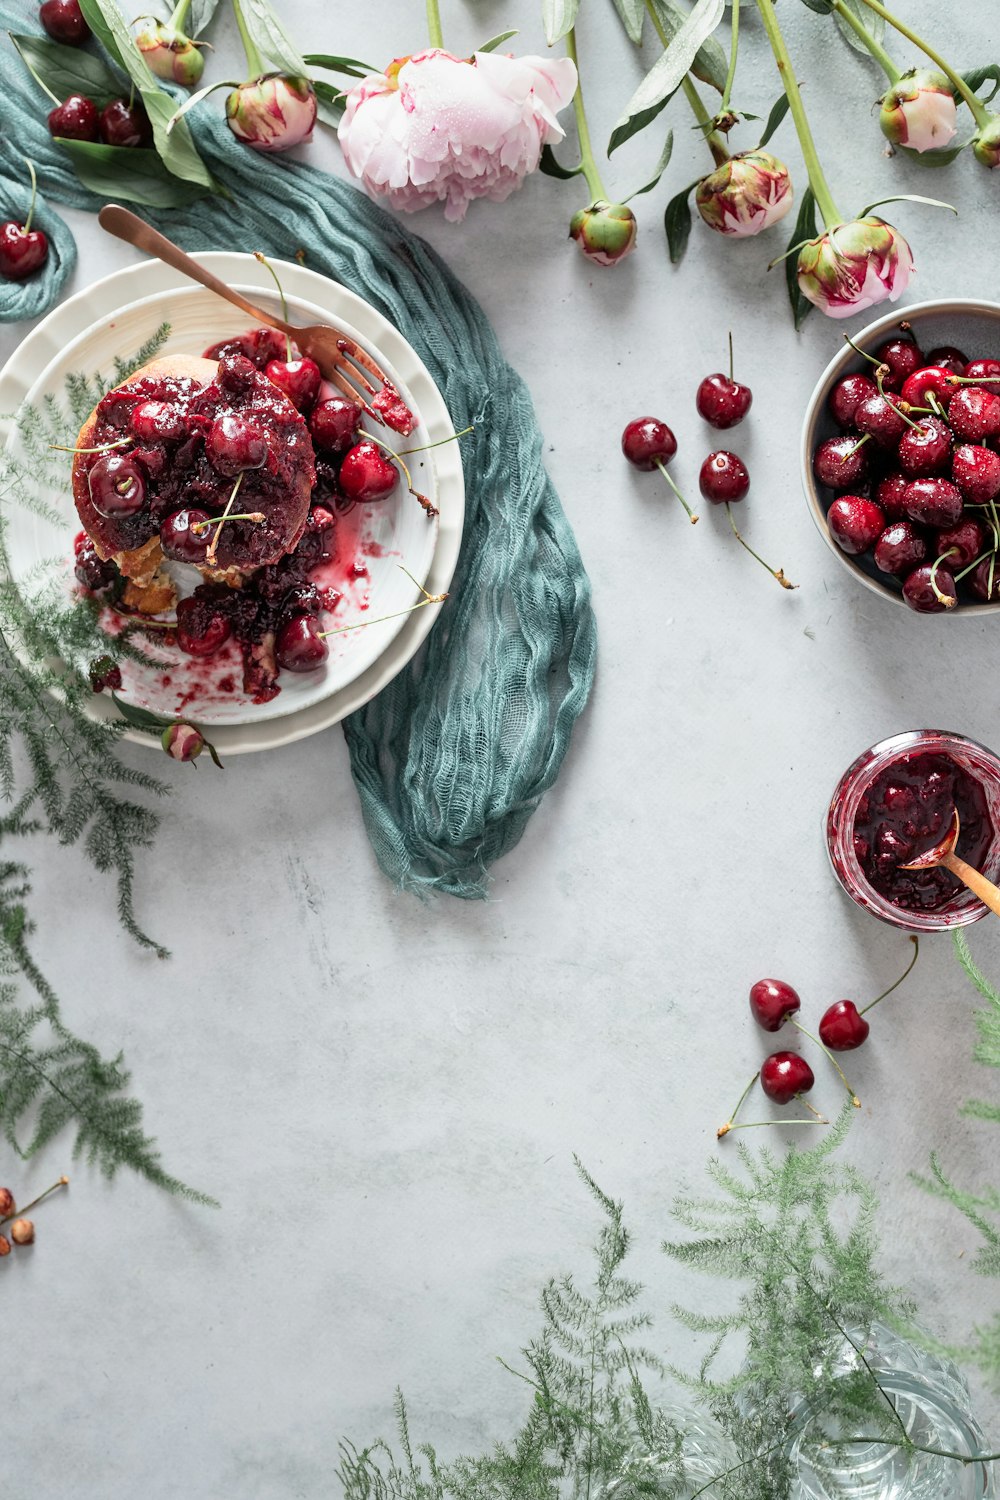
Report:
[[[474,198],[502,202],[561,141],[576,90],[568,57],[453,57],[432,48],[391,63],[348,93],[337,134],[370,194],[412,213],[444,202],[457,220]]]

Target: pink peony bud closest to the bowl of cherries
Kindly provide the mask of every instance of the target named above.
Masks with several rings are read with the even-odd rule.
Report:
[[[895,302],[913,273],[913,256],[898,230],[873,216],[838,224],[799,250],[798,280],[828,318],[850,318]]]

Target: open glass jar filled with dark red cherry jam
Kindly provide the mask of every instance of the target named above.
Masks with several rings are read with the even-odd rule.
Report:
[[[873,915],[907,932],[978,921],[987,908],[949,870],[901,866],[942,843],[954,808],[957,854],[1000,876],[1000,760],[975,740],[916,729],[883,740],[840,780],[826,818],[837,879]]]

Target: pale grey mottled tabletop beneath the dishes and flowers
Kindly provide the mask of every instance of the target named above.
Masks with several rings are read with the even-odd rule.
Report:
[[[987,8],[958,6],[948,26],[930,0],[900,8],[960,64],[993,56]],[[421,9],[294,0],[283,14],[312,46],[382,62],[421,44]],[[522,27],[519,46],[541,45],[532,0],[444,0],[444,12],[459,51],[507,26]],[[601,140],[639,64],[610,4],[583,12]],[[933,176],[889,162],[870,117],[874,70],[811,12],[792,0],[781,12],[844,210],[891,192],[949,198],[958,220],[892,210],[915,244],[913,292],[988,296],[997,182],[972,159]],[[766,114],[777,86],[753,18],[744,57],[738,104]],[[576,183],[534,180],[460,228],[417,225],[535,393],[600,615],[592,704],[492,900],[420,904],[387,885],[339,730],[225,776],[177,770],[138,880],[169,963],[129,945],[109,885],[75,850],[28,850],[34,942],[69,1024],[105,1053],[124,1048],[166,1166],[222,1209],[129,1176],[108,1186],[70,1166],[69,1142],[24,1170],[4,1149],[0,1174],[25,1197],[63,1168],[73,1179],[39,1212],[34,1250],[3,1268],[10,1494],[333,1496],[339,1437],[387,1431],[397,1384],[418,1436],[445,1454],[507,1434],[525,1394],[493,1356],[516,1354],[541,1281],[585,1266],[595,1230],[573,1152],[625,1198],[661,1341],[688,1358],[666,1308],[708,1306],[717,1288],[681,1282],[657,1245],[672,1192],[699,1180],[763,1056],[748,986],[783,975],[817,1017],[877,993],[904,962],[904,938],[841,898],[822,813],[844,765],[886,734],[934,723],[1000,746],[997,627],[882,604],[814,532],[795,447],[841,330],[816,316],[793,334],[781,273],[765,276],[784,236],[732,246],[696,225],[688,261],[669,266],[663,207],[708,162],[682,100],[670,116],[675,160],[639,200],[640,248],[616,272],[591,272],[565,243]],[[640,180],[658,150],[657,130],[633,142],[609,182]],[[801,183],[787,124],[775,150]],[[328,136],[310,159],[342,171]],[[75,286],[127,264],[70,218]],[[712,444],[694,386],[723,363],[729,327],[756,396],[733,435],[753,471],[747,532],[795,594],[741,554],[724,516],[693,531],[618,452],[627,418],[660,412],[681,441],[675,474],[696,489]],[[3,330],[4,354],[21,333]],[[996,932],[982,924],[973,942],[999,972]],[[909,1173],[939,1148],[960,1180],[996,1182],[996,1130],[958,1113],[996,1089],[970,1060],[973,999],[949,942],[928,942],[850,1059],[865,1107],[849,1154],[882,1196],[886,1268],[949,1338],[996,1304],[996,1284],[970,1270],[973,1232]],[[996,1398],[981,1394],[981,1413],[997,1436]]]

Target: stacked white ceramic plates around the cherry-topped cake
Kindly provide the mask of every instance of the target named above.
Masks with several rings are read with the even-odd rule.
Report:
[[[202,260],[223,279],[250,291],[268,309],[276,306],[273,282],[268,288],[270,276],[253,256],[216,252]],[[453,428],[441,394],[417,354],[391,324],[360,297],[315,272],[282,262],[279,274],[289,297],[292,321],[336,322],[366,345],[388,370],[420,417],[418,432],[400,440],[403,446],[448,436]],[[0,410],[10,411],[25,399],[34,404],[46,394],[61,400],[64,376],[70,370],[112,374],[114,356],[132,354],[163,321],[171,322],[171,342],[166,346],[171,352],[201,352],[216,339],[247,327],[244,315],[220,298],[159,262],[142,262],[79,292],[27,336],[0,375]],[[391,435],[385,436],[388,440]],[[13,436],[12,441],[16,447],[19,440]],[[337,608],[339,618],[334,616],[328,624],[376,618],[412,604],[420,596],[399,567],[400,562],[430,592],[448,588],[465,512],[459,444],[415,454],[414,483],[439,507],[436,525],[429,522],[423,508],[402,486],[388,504],[357,507],[346,518],[339,518],[348,586],[343,591],[345,600]],[[69,542],[78,530],[75,508],[64,495],[52,494],[46,498],[64,516],[64,530],[25,512],[12,510],[9,514],[9,552],[15,580],[24,579],[42,558],[60,554],[69,558]],[[348,579],[349,562],[358,554],[367,576]],[[69,562],[64,567],[69,578]],[[196,574],[190,573],[190,582],[196,582]],[[367,609],[363,610],[366,596]],[[436,615],[438,609],[432,606],[385,624],[330,638],[331,656],[325,668],[312,674],[282,674],[282,692],[271,704],[253,705],[241,693],[223,698],[210,692],[202,694],[201,702],[189,702],[184,712],[199,723],[211,724],[213,742],[229,754],[268,748],[313,734],[378,693],[412,657]],[[130,696],[157,712],[172,714],[177,711],[177,699],[169,693],[163,696],[162,670],[135,681]],[[238,670],[235,675],[238,682]],[[93,711],[106,714],[114,710],[105,699],[96,698]],[[141,744],[156,744],[148,736],[133,738]]]

